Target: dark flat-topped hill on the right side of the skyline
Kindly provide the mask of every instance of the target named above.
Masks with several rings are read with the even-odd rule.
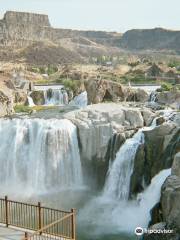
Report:
[[[130,30],[120,39],[119,47],[129,50],[180,51],[180,31],[162,28]]]

